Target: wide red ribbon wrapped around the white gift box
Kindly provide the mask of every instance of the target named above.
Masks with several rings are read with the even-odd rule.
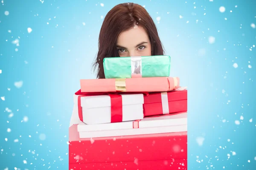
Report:
[[[148,96],[148,92],[140,92],[145,96]],[[78,115],[79,119],[83,122],[83,112],[81,107],[81,97],[84,96],[98,96],[109,95],[111,99],[111,123],[122,122],[122,96],[119,94],[140,94],[136,92],[81,92],[81,89],[75,94],[78,96]]]

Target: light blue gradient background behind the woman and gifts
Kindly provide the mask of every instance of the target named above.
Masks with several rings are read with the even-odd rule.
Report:
[[[79,89],[79,79],[95,78],[91,64],[97,52],[101,16],[118,3],[1,3],[0,96],[5,96],[5,101],[0,99],[0,170],[68,169],[73,93]],[[256,29],[250,25],[256,24],[256,1],[134,3],[145,5],[151,14],[166,54],[172,57],[171,76],[180,77],[181,85],[189,90],[188,169],[255,170]],[[220,6],[226,8],[224,13],[219,11]],[[8,16],[5,11],[9,11]],[[161,17],[159,23],[157,17]],[[209,36],[215,37],[215,43],[209,43]],[[12,43],[15,39],[19,39],[19,46]],[[21,88],[14,85],[18,81],[23,81]],[[6,108],[12,110],[12,118]],[[28,116],[28,122],[21,122],[24,116]],[[7,132],[7,128],[12,131]],[[45,140],[39,138],[42,133]],[[202,145],[198,137],[204,139]]]

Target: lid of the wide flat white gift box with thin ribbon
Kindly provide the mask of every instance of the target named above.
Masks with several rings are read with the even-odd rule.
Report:
[[[133,129],[134,123],[136,123],[136,126],[138,125],[139,128],[187,125],[187,112],[145,117],[140,121],[138,120],[138,121],[105,123],[100,125],[87,125],[81,122],[77,127],[79,132],[97,131],[97,130],[120,130],[120,129]]]

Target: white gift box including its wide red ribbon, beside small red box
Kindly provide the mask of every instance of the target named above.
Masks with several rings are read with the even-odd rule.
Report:
[[[143,94],[74,95],[79,119],[87,125],[143,119]]]

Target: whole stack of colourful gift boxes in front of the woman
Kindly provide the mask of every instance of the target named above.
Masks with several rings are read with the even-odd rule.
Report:
[[[187,90],[169,56],[109,57],[105,79],[81,79],[69,169],[187,169]]]

